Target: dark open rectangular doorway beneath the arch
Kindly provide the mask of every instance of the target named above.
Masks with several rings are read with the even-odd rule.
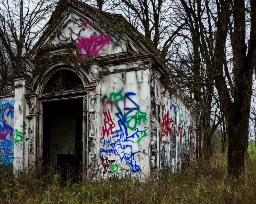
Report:
[[[63,180],[82,178],[83,99],[43,103],[43,164]]]

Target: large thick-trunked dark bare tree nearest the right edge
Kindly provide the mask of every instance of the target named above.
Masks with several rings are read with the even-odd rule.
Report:
[[[246,8],[245,2],[240,0],[180,1],[185,15],[191,19],[188,26],[198,27],[196,44],[206,72],[214,77],[226,120],[228,173],[238,176],[244,171],[244,155],[248,146],[252,75],[256,59],[256,3],[250,1],[250,8]],[[246,17],[249,18],[248,43]]]

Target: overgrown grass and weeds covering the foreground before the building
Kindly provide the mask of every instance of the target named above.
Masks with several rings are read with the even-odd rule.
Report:
[[[67,183],[59,174],[35,173],[14,179],[12,166],[0,167],[0,203],[256,203],[256,159],[246,160],[237,180],[226,175],[226,158],[215,155],[180,174],[122,180]]]

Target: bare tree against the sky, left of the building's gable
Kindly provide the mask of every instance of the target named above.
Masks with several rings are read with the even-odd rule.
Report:
[[[27,53],[45,29],[54,1],[0,1],[1,93],[11,85],[10,74],[28,71]]]

